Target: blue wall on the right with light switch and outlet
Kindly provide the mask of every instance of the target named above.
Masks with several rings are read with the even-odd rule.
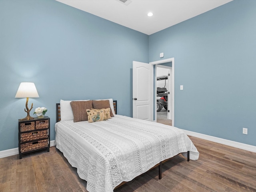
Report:
[[[254,0],[234,0],[150,35],[150,62],[160,52],[175,58],[175,126],[256,146],[255,48]]]

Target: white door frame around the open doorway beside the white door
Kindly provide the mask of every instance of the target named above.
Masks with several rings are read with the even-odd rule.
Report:
[[[154,65],[157,65],[157,64],[163,64],[163,63],[167,63],[167,62],[172,62],[172,126],[174,126],[174,58],[168,58],[168,59],[164,59],[164,60],[158,60],[158,61],[154,61],[154,62],[150,62],[149,64],[152,65],[152,76],[154,75]],[[153,81],[153,80],[152,80]],[[152,98],[154,98],[153,94],[156,94],[156,89],[155,89],[155,92],[153,93],[152,92]],[[154,101],[156,102],[156,101]],[[156,103],[155,103],[156,105]],[[152,105],[152,111],[153,111],[153,106]],[[153,116],[153,114],[152,114]],[[154,119],[156,119],[156,107],[155,107],[155,117]]]

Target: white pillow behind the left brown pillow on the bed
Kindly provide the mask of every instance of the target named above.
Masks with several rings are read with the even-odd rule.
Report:
[[[78,100],[89,101],[89,100]],[[60,121],[74,120],[73,111],[70,105],[72,101],[60,100]]]

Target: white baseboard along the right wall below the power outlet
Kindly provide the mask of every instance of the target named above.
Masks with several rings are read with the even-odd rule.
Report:
[[[247,150],[247,151],[251,151],[251,152],[256,152],[256,146],[253,146],[253,145],[239,143],[239,142],[236,142],[236,141],[226,140],[226,139],[222,139],[222,138],[218,138],[218,137],[214,137],[214,136],[209,136],[209,135],[205,135],[205,134],[201,134],[201,133],[196,133],[196,132],[192,132],[192,131],[188,131],[188,130],[183,130],[183,131],[187,135],[190,135],[190,136],[198,137],[198,138],[201,138],[201,139],[204,139],[204,140],[208,140],[208,141],[212,141],[212,142],[232,146],[232,147],[235,147],[235,148],[239,148],[239,149],[243,149],[243,150]]]

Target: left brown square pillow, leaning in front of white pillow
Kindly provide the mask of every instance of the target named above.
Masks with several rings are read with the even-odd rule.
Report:
[[[92,101],[72,101],[70,105],[73,111],[74,122],[88,121],[86,109],[92,108]]]

